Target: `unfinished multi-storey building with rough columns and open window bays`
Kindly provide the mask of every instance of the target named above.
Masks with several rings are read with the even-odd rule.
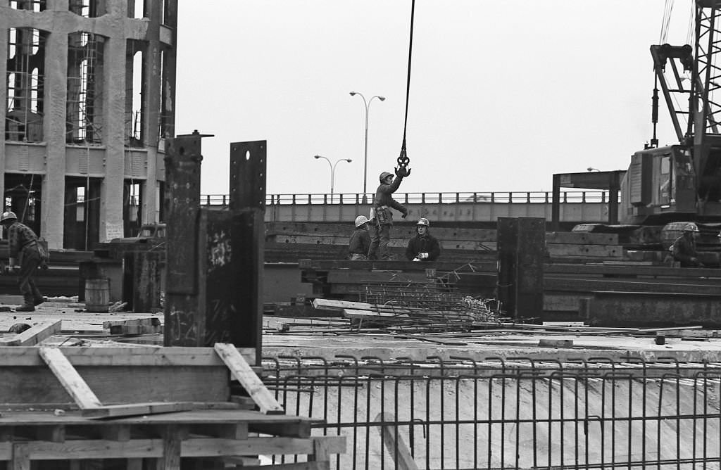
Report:
[[[0,191],[50,248],[162,220],[176,23],[177,0],[0,0]]]

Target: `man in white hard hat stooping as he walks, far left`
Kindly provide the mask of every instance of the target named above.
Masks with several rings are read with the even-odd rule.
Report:
[[[14,267],[19,265],[17,283],[25,303],[15,311],[35,311],[35,306],[45,301],[32,279],[35,270],[44,263],[40,256],[37,235],[30,227],[17,221],[14,212],[4,212],[0,216],[0,223],[5,228],[9,241],[10,260],[7,270],[15,271]]]

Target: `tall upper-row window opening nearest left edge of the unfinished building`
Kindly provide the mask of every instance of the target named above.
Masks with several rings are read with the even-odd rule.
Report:
[[[45,39],[33,28],[10,28],[7,48],[5,140],[43,141]]]

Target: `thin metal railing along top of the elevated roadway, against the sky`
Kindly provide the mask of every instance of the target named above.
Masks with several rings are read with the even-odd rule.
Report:
[[[450,204],[450,203],[540,203],[552,202],[550,191],[494,191],[494,192],[396,192],[393,198],[402,204]],[[283,204],[369,204],[373,194],[269,194],[266,205]],[[561,203],[607,203],[608,191],[562,191]],[[203,205],[228,205],[230,196],[208,194],[200,196]]]

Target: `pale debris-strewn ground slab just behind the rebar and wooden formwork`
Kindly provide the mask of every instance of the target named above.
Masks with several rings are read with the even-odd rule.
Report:
[[[20,296],[0,296],[0,307],[14,309],[21,303]],[[63,335],[162,345],[162,334],[110,334],[107,327],[103,326],[105,322],[149,318],[158,319],[162,324],[164,314],[162,311],[93,313],[86,311],[85,304],[74,298],[49,298],[33,312],[0,311],[0,332],[12,335],[8,329],[13,324],[26,323],[32,326],[37,322],[60,319]],[[646,360],[673,357],[681,361],[721,361],[721,332],[709,329],[648,329],[627,334],[602,330],[593,334],[540,334],[513,328],[422,335],[349,332],[347,329],[333,332],[340,322],[342,319],[264,316],[263,353],[270,356],[321,356],[327,359],[345,354],[373,356],[381,360],[402,356],[415,360],[433,356],[466,356],[476,360],[524,356],[565,361],[598,355],[616,358],[632,355]],[[663,334],[663,344],[657,344],[657,334]]]

